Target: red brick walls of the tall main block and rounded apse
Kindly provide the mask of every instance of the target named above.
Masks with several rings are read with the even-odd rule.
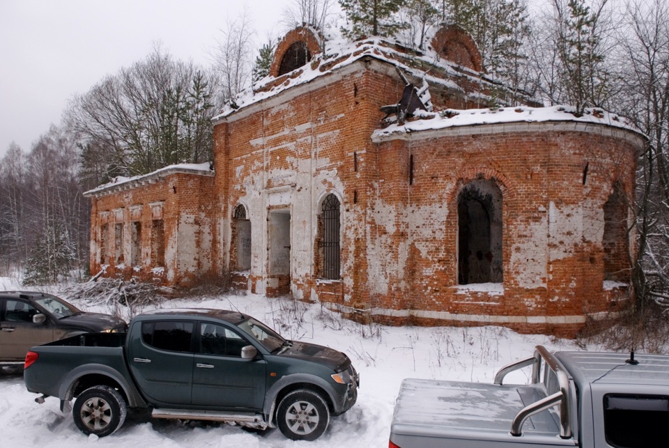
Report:
[[[633,191],[631,137],[603,125],[553,131],[530,123],[374,144],[378,107],[396,102],[403,88],[392,70],[361,61],[314,83],[215,127],[218,221],[225,223],[220,255],[227,263],[231,213],[243,202],[252,222],[252,291],[275,291],[284,281],[272,282],[268,272],[266,224],[268,213],[284,209],[291,213],[291,292],[298,298],[367,310],[379,320],[556,334],[574,334],[585,316],[624,307],[620,293],[603,291],[601,235],[613,182]],[[500,293],[457,286],[457,198],[477,177],[502,192]],[[341,201],[341,281],[319,280],[314,265],[320,201],[330,192]]]

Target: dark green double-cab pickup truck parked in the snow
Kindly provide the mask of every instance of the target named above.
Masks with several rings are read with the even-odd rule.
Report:
[[[200,419],[252,428],[278,426],[315,440],[357,399],[348,357],[289,341],[258,320],[220,309],[139,314],[127,334],[80,334],[31,348],[29,392],[61,400],[77,427],[114,433],[128,408],[153,418]],[[70,401],[75,399],[74,405]]]

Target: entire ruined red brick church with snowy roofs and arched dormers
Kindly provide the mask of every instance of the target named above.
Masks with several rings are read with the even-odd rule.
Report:
[[[213,164],[86,193],[91,272],[231,276],[384,323],[573,336],[615,316],[643,136],[601,110],[492,107],[482,71],[455,26],[420,52],[294,29],[215,116]]]

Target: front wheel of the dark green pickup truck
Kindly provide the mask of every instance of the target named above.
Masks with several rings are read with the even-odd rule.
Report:
[[[307,389],[290,392],[277,408],[277,426],[291,440],[316,440],[329,423],[328,405],[320,395]]]

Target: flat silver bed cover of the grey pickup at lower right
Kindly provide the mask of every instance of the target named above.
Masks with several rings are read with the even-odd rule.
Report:
[[[542,387],[532,385],[407,379],[397,397],[392,433],[398,441],[404,436],[413,440],[422,437],[426,448],[449,446],[444,445],[445,438],[452,440],[454,447],[468,447],[472,431],[479,440],[471,446],[484,446],[482,440],[490,440],[491,447],[499,446],[505,438],[518,443],[509,433],[509,415],[545,396]],[[574,446],[573,440],[557,437],[559,432],[557,415],[540,412],[525,422],[522,438],[528,443],[549,439],[551,445]],[[397,445],[402,446],[401,442]]]

